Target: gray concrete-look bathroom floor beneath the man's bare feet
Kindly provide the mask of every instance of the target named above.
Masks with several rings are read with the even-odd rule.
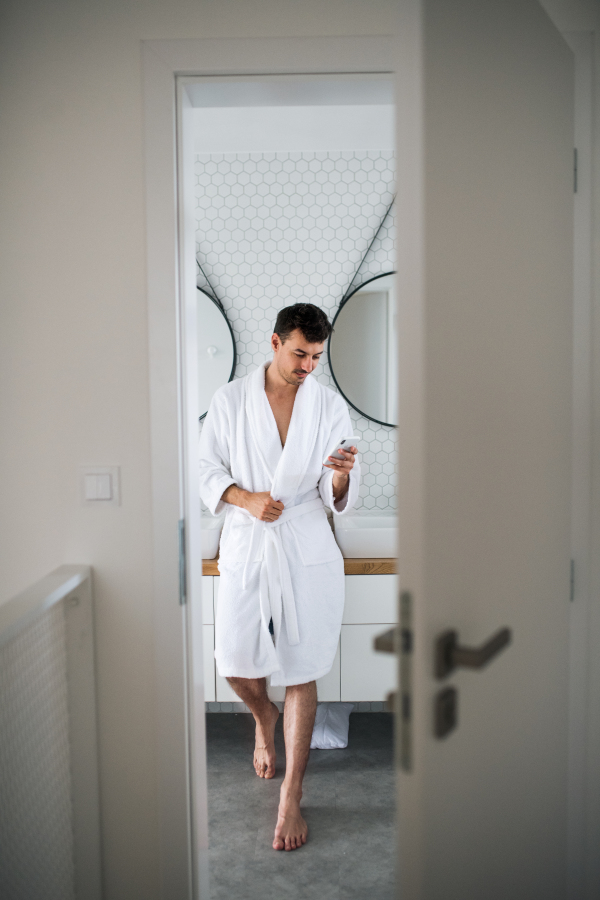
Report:
[[[254,720],[209,713],[211,900],[393,900],[396,836],[392,717],[352,713],[346,750],[312,750],[304,780],[308,842],[271,847],[285,750],[277,775],[252,767]]]

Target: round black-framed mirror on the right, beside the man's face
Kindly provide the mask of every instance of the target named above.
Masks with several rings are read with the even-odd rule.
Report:
[[[377,275],[343,301],[329,338],[329,366],[340,393],[380,425],[396,424],[394,273]]]

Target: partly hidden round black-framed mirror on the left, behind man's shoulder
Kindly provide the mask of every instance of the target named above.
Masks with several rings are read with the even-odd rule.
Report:
[[[198,288],[198,408],[208,412],[214,392],[231,381],[235,372],[235,338],[225,310]]]

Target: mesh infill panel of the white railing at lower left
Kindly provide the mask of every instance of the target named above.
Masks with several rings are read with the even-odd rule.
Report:
[[[0,897],[71,900],[64,603],[0,647]]]

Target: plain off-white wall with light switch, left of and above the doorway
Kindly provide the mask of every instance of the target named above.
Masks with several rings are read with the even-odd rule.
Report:
[[[94,567],[108,900],[158,896],[142,39],[385,34],[395,0],[0,8],[0,600]],[[79,506],[80,463],[122,505]]]

